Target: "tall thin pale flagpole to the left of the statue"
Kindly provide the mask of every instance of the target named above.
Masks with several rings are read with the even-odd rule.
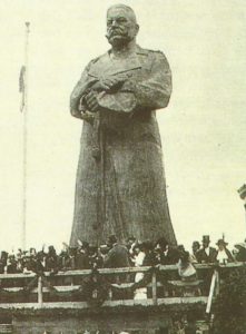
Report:
[[[26,249],[26,233],[27,233],[27,153],[28,153],[28,49],[29,49],[29,32],[30,23],[26,22],[26,40],[24,40],[24,89],[23,89],[23,166],[22,166],[22,232],[21,244],[22,249]]]

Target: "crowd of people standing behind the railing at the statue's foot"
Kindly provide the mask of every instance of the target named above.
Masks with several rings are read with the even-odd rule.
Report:
[[[127,266],[155,266],[178,263],[218,263],[246,262],[246,242],[235,245],[233,252],[227,248],[225,239],[210,246],[209,236],[203,236],[201,243],[194,242],[191,253],[183,245],[168,245],[165,238],[155,243],[139,242],[134,236],[126,244],[118,243],[116,236],[109,236],[107,244],[99,247],[88,242],[78,240],[78,247],[63,244],[63,249],[57,254],[53,246],[37,252],[36,248],[18,249],[16,254],[1,252],[0,274],[40,273],[59,271],[117,268]]]

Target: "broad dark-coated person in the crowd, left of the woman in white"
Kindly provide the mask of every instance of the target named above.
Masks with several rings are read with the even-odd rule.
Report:
[[[104,267],[120,268],[130,266],[127,247],[118,244],[115,235],[109,236],[108,245],[110,250],[105,257]]]

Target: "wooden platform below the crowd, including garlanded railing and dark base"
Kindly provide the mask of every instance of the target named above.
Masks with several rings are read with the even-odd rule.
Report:
[[[191,312],[204,320],[223,277],[244,265],[195,264],[197,279],[190,282],[180,279],[176,265],[1,274],[0,323],[6,326],[8,320],[13,332],[1,332],[0,326],[0,333],[156,333],[151,331],[160,327],[169,333],[174,313]],[[137,273],[144,274],[139,282]]]

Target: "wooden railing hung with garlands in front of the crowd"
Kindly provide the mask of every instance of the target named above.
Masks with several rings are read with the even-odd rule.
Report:
[[[219,291],[219,273],[243,265],[197,264],[198,277],[193,282],[181,281],[176,265],[68,271],[56,275],[1,274],[0,308],[157,306],[199,302],[207,305],[209,313],[213,297]],[[137,273],[144,274],[139,282],[135,282]],[[136,298],[136,292],[142,288],[144,297]]]

